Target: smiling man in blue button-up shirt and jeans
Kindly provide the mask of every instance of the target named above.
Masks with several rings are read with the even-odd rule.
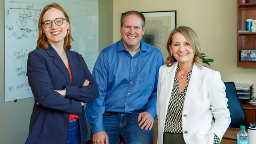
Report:
[[[158,70],[162,53],[142,41],[145,17],[137,11],[122,15],[122,39],[101,51],[92,75],[99,97],[87,103],[91,143],[153,143]]]

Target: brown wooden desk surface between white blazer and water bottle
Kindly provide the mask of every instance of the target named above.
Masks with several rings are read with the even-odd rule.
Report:
[[[237,133],[240,131],[238,128],[228,127],[227,132],[223,135],[220,144],[236,144]],[[247,130],[245,130],[247,132]]]

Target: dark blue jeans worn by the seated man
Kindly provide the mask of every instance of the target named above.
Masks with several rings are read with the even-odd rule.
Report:
[[[145,130],[139,126],[138,116],[143,111],[132,114],[105,112],[103,124],[108,134],[109,144],[119,144],[123,139],[125,144],[153,143],[153,129]],[[91,134],[92,143],[92,134]]]

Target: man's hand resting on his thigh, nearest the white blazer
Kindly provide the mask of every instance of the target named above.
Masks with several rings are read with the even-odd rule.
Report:
[[[140,113],[139,116],[138,116],[138,122],[139,123],[139,126],[141,126],[141,129],[143,130],[144,127],[145,127],[145,130],[151,130],[152,129],[152,126],[154,124],[154,118],[153,116],[148,113],[148,112],[143,112],[143,113]]]

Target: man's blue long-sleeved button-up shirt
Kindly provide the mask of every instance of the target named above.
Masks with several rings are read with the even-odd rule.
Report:
[[[105,111],[132,113],[145,110],[156,116],[158,70],[164,65],[162,53],[141,40],[133,57],[121,41],[101,51],[92,75],[99,84],[99,97],[86,105],[92,133],[105,131]]]

